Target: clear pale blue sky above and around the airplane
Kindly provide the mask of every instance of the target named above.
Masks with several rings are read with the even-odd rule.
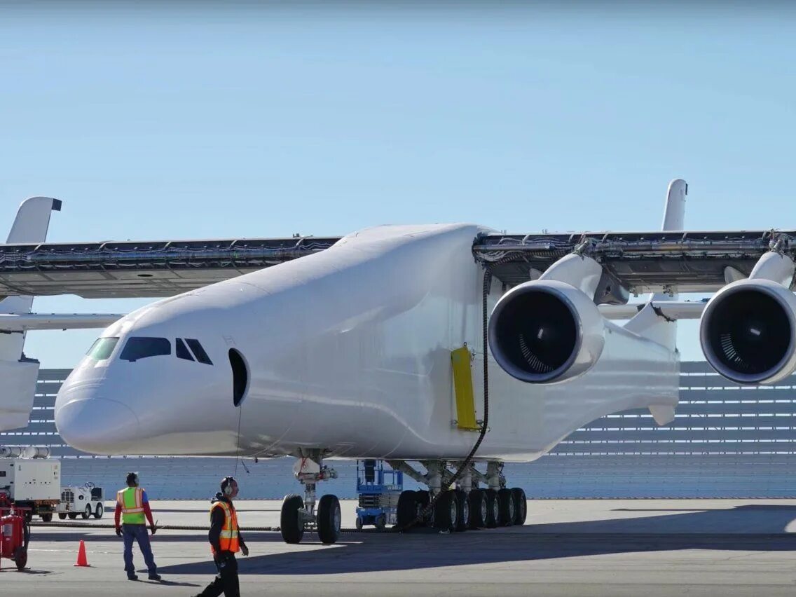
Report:
[[[110,4],[0,2],[0,230],[33,195],[53,241],[655,229],[672,178],[689,228],[796,227],[785,2]]]

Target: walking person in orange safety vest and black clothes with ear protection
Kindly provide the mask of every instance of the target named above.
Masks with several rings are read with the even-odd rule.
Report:
[[[241,552],[248,556],[248,547],[238,528],[238,514],[232,500],[238,495],[238,483],[232,477],[224,477],[221,490],[210,502],[210,551],[218,575],[198,597],[240,597],[238,583],[238,563],[235,554]]]

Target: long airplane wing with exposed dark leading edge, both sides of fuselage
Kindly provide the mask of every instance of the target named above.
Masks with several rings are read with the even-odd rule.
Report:
[[[330,248],[339,237],[127,241],[0,245],[0,295],[161,297],[220,282]],[[792,248],[796,231],[577,232],[482,234],[474,258],[509,287],[538,278],[557,259],[582,252],[603,266],[612,285],[603,302],[630,294],[714,292],[746,278],[779,243]]]

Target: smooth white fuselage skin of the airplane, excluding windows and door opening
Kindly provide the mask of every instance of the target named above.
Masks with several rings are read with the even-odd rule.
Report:
[[[466,343],[476,353],[480,418],[483,270],[470,248],[482,231],[369,228],[324,252],[137,310],[101,334],[119,338],[109,357],[85,357],[60,389],[60,435],[103,455],[317,448],[345,458],[462,459],[477,434],[451,424],[451,350]],[[495,280],[490,311],[500,295]],[[600,416],[677,404],[673,346],[604,325],[599,361],[574,379],[524,383],[490,354],[490,431],[476,460],[528,462]],[[171,354],[120,360],[133,337],[167,338]],[[201,341],[213,366],[176,357],[176,338]],[[248,365],[240,407],[229,349]]]

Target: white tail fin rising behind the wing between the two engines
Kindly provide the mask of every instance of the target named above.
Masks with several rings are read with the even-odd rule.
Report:
[[[662,230],[682,230],[685,227],[685,196],[688,191],[689,185],[681,178],[669,182]],[[666,318],[655,308],[657,302],[672,300],[677,300],[677,288],[674,287],[669,292],[650,295],[646,306],[627,322],[625,329],[650,338],[669,350],[677,350],[677,322]]]

